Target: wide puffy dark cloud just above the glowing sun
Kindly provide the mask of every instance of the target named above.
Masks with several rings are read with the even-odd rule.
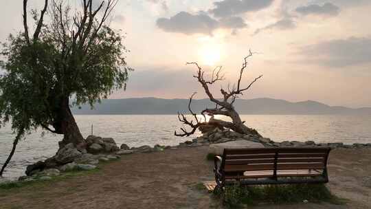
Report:
[[[240,17],[225,17],[216,20],[210,17],[206,12],[190,14],[188,12],[179,12],[170,18],[157,19],[157,27],[166,32],[178,32],[182,34],[207,34],[218,28],[237,30],[245,28],[247,24]]]

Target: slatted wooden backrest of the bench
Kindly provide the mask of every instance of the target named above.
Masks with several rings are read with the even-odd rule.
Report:
[[[326,169],[328,147],[225,148],[221,169],[228,172],[253,170]]]

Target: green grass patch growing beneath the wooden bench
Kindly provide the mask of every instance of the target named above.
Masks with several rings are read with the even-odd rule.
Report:
[[[225,190],[214,192],[221,198],[228,208],[238,208],[243,205],[256,205],[258,203],[302,203],[303,201],[333,204],[344,204],[331,194],[324,184],[284,184],[267,186],[240,186],[234,184],[226,186]]]

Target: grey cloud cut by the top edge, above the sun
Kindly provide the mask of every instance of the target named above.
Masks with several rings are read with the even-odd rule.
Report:
[[[215,17],[229,17],[245,12],[254,12],[271,5],[273,0],[223,0],[214,2],[215,8],[209,10]]]

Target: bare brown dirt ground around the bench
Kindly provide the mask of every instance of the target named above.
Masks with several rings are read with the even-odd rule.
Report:
[[[0,196],[0,208],[223,208],[196,184],[213,179],[207,146],[135,153],[102,165],[98,173],[20,188]],[[255,208],[371,208],[371,148],[335,149],[330,190],[346,205],[300,203]]]

